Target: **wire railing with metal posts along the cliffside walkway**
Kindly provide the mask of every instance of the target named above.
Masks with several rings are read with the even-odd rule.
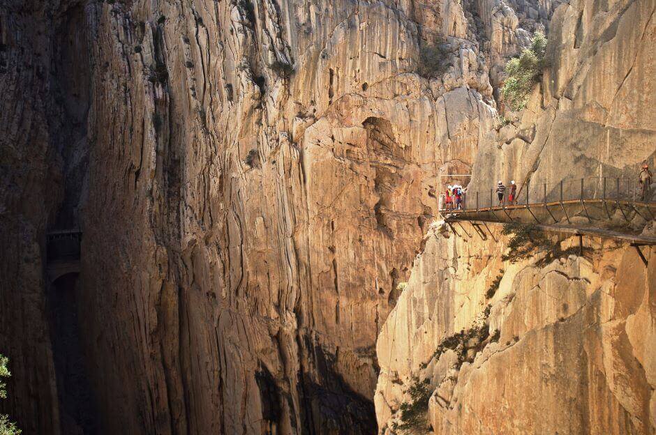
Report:
[[[515,197],[509,197],[510,186],[506,185],[500,200],[496,186],[490,190],[470,192],[463,190],[461,203],[447,204],[446,194],[439,197],[440,211],[485,211],[498,208],[525,208],[525,206],[550,206],[576,202],[607,202],[645,204],[651,201],[653,192],[643,188],[636,178],[588,177],[563,180],[559,183],[523,183],[518,185]],[[522,207],[523,206],[523,207]]]

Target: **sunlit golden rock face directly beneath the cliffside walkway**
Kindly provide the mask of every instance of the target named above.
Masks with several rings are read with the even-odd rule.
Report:
[[[505,259],[500,227],[485,241],[467,227],[428,232],[382,328],[380,433],[653,433],[654,262],[554,235],[556,258]]]

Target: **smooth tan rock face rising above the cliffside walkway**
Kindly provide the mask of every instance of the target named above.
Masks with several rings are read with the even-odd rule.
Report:
[[[549,33],[549,66],[527,109],[509,114],[513,124],[482,141],[470,190],[514,179],[541,199],[543,183],[588,178],[586,188],[601,190],[604,177],[620,177],[623,196],[632,198],[641,163],[656,164],[656,64],[649,54],[655,6],[652,0],[577,1],[559,8]],[[579,185],[566,183],[567,190]],[[609,181],[609,194],[616,190]]]

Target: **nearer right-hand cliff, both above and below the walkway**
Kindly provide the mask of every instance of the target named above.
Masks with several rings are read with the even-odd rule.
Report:
[[[549,67],[528,108],[481,141],[470,192],[515,179],[542,201],[553,193],[543,183],[586,177],[601,194],[604,177],[634,180],[641,162],[653,167],[655,6],[556,10]],[[565,184],[565,194],[578,189]],[[653,261],[594,238],[581,254],[552,235],[555,259],[511,263],[507,238],[489,230],[486,241],[473,228],[463,238],[429,231],[378,338],[380,433],[653,434]]]

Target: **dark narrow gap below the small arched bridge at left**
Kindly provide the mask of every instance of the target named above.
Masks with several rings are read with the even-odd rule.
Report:
[[[98,434],[96,401],[87,376],[75,292],[78,274],[57,277],[47,290],[50,340],[62,434]]]

